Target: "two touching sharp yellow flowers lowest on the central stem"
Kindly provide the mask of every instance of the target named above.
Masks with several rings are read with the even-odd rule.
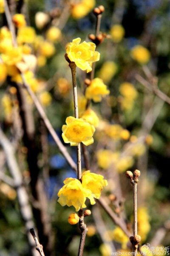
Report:
[[[102,188],[107,186],[107,180],[102,175],[85,171],[82,175],[82,183],[78,179],[66,178],[64,186],[58,192],[58,202],[62,206],[74,206],[76,211],[85,208],[86,198],[90,199],[91,204],[99,199]]]

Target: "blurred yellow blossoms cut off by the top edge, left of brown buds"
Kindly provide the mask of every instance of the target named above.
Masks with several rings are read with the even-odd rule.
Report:
[[[71,1],[71,15],[75,19],[81,19],[88,15],[96,4],[95,0],[80,0],[78,3],[75,0]]]

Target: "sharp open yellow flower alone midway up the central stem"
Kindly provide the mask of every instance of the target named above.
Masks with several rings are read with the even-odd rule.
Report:
[[[66,118],[66,124],[62,125],[62,138],[65,143],[77,146],[80,142],[86,146],[94,143],[93,134],[95,128],[84,119],[76,119],[73,116]]]

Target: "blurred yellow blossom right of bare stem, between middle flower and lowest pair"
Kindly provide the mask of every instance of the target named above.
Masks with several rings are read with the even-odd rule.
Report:
[[[100,149],[97,151],[97,164],[103,168],[108,169],[111,163],[119,159],[119,153],[113,153],[108,149]]]

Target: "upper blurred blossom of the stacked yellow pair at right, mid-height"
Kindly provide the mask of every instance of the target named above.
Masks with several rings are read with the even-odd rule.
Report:
[[[138,92],[134,88],[133,84],[128,82],[122,83],[119,87],[119,91],[126,98],[136,99],[138,96]]]

